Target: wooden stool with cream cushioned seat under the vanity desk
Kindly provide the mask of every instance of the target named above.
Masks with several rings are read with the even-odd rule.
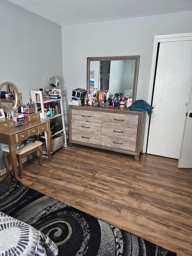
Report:
[[[23,178],[23,165],[22,165],[22,158],[24,156],[27,156],[27,162],[29,162],[29,155],[35,152],[36,150],[39,150],[39,164],[43,165],[42,158],[43,158],[43,148],[42,148],[42,142],[36,140],[34,143],[26,143],[24,144],[24,147],[21,149],[16,149],[16,157],[18,161],[19,166],[19,176],[22,179]],[[6,167],[6,174],[8,175],[10,173],[9,164],[7,161],[7,155],[9,154],[9,146],[4,147],[3,149],[3,161]]]

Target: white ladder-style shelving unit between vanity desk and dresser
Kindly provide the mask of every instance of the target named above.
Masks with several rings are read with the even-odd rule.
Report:
[[[55,124],[61,124],[62,129],[60,131],[55,132],[55,134],[53,134],[52,137],[57,135],[57,134],[63,133],[64,142],[63,142],[63,144],[61,143],[62,145],[60,145],[60,147],[62,147],[62,146],[67,147],[67,139],[66,139],[66,131],[65,131],[65,122],[64,122],[64,112],[63,112],[61,89],[57,89],[57,91],[58,91],[59,95],[61,96],[60,99],[50,99],[49,97],[48,98],[43,98],[43,94],[39,90],[31,91],[31,99],[32,99],[32,102],[37,102],[37,104],[39,105],[38,110],[41,110],[42,119],[46,119],[46,113],[44,112],[44,104],[49,103],[49,102],[58,103],[58,113],[54,117],[51,117],[49,120],[50,120],[50,123],[55,122]],[[37,95],[38,95],[39,101],[36,100]],[[39,135],[39,137],[44,138],[45,141],[46,141],[46,136],[40,136]],[[55,151],[52,151],[51,154]],[[47,152],[44,150],[43,154],[47,155]]]

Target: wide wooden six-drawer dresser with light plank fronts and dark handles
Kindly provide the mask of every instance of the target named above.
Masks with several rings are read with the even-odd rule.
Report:
[[[69,105],[69,144],[81,144],[134,155],[143,150],[146,113],[124,109]]]

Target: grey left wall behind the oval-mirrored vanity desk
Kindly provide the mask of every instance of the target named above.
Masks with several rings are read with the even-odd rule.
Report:
[[[0,10],[0,84],[15,84],[23,103],[31,90],[48,88],[52,76],[63,89],[61,26],[6,0],[0,1]]]

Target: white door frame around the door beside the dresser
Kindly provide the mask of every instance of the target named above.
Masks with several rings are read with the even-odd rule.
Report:
[[[154,82],[154,76],[155,76],[158,43],[172,42],[172,41],[187,41],[187,40],[192,40],[192,33],[155,35],[154,44],[153,44],[151,75],[150,75],[150,82],[149,82],[149,94],[148,94],[148,101],[147,101],[149,104],[151,104],[151,101],[152,101],[153,82]],[[146,115],[145,134],[144,134],[144,141],[143,141],[143,153],[147,152],[147,139],[149,135],[149,125],[150,125],[149,121],[150,121],[150,117]]]

